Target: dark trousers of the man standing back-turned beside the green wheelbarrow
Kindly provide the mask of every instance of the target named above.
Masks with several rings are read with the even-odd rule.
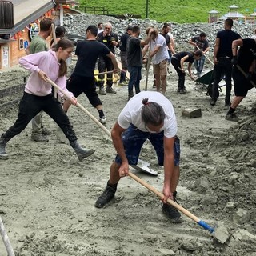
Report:
[[[218,98],[218,83],[222,80],[222,75],[225,74],[226,81],[226,97],[225,102],[230,102],[231,95],[231,77],[232,77],[232,64],[231,58],[218,58],[218,63],[214,66],[214,86],[213,97]]]

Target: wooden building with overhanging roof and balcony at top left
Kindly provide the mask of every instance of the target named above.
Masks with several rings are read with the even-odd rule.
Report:
[[[0,17],[0,70],[17,65],[18,59],[26,55],[25,49],[38,34],[42,18],[62,21],[64,7],[76,3],[73,0],[0,0],[0,13],[3,14]]]

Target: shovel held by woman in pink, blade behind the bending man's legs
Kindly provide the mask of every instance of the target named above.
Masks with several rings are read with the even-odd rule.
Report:
[[[47,82],[49,82],[52,86],[54,86],[54,88],[56,90],[59,90],[60,92],[62,92],[62,94],[64,94],[66,96],[66,98],[70,99],[69,94],[66,94],[66,92],[64,90],[62,90],[56,83],[54,83],[53,81],[50,80],[50,78],[46,78]],[[77,102],[76,106],[78,106],[83,112],[85,112],[90,119],[92,119],[100,128],[102,128],[102,130],[104,130],[104,132],[110,136],[111,138],[111,134],[110,131],[106,129],[105,126],[102,125],[101,122],[98,121],[97,118],[94,118],[94,116],[92,114],[90,114],[90,112],[88,110],[86,110],[80,103]],[[58,132],[59,131],[59,132]],[[58,130],[55,132],[55,134],[58,133],[58,139],[63,142],[63,143],[69,143],[68,140],[66,139],[66,136],[63,134],[62,130]],[[61,135],[60,135],[61,134]],[[139,165],[139,166],[138,166]],[[158,175],[158,173],[156,171],[154,171],[153,169],[150,169],[148,167],[149,163],[146,161],[142,161],[142,160],[138,160],[138,165],[137,166],[133,166],[134,169],[136,170],[142,170],[143,172],[146,172],[147,174],[152,174],[152,175]]]

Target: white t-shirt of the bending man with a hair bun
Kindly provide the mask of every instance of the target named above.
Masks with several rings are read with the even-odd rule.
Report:
[[[142,91],[131,98],[118,116],[119,126],[121,126],[122,129],[127,129],[130,124],[133,124],[143,132],[149,131],[146,129],[145,122],[142,122],[141,110],[143,106],[143,98],[148,98],[149,102],[156,102],[162,106],[166,118],[164,119],[164,125],[161,130],[164,130],[164,135],[167,138],[174,137],[177,134],[177,122],[174,107],[165,96],[154,91]]]

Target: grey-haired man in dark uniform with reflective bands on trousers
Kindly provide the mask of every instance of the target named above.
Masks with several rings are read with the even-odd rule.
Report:
[[[112,32],[112,24],[110,22],[106,22],[104,25],[104,31],[98,34],[97,36],[98,42],[102,42],[105,46],[107,46],[110,51],[114,54],[115,47],[118,47],[118,35]],[[111,59],[107,56],[100,56],[98,61],[98,72],[102,73],[105,71],[112,71],[113,64]],[[104,75],[98,76],[98,86],[99,91],[98,94],[106,95],[116,94],[117,92],[112,88],[113,85],[113,74],[107,74],[106,76],[106,91],[104,90]]]

